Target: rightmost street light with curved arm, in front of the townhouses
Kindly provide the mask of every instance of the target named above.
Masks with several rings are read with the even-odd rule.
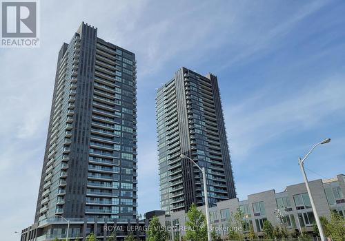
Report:
[[[313,149],[315,149],[315,147],[317,147],[318,145],[322,145],[322,144],[326,144],[329,143],[331,141],[331,138],[327,138],[325,140],[322,140],[322,142],[319,142],[317,144],[315,144],[311,150],[308,152],[308,154],[306,154],[306,156],[304,156],[304,158],[298,158],[298,163],[299,163],[299,167],[301,168],[302,171],[302,175],[304,178],[304,182],[306,183],[306,190],[308,191],[308,196],[309,199],[311,200],[311,208],[313,209],[313,213],[315,216],[315,221],[317,224],[317,229],[319,229],[319,234],[320,234],[320,238],[322,241],[324,241],[325,236],[324,236],[324,229],[322,229],[322,224],[320,222],[319,216],[317,215],[317,210],[315,207],[315,203],[313,200],[313,196],[311,196],[311,188],[309,187],[309,183],[308,183],[308,178],[306,177],[306,171],[304,170],[304,160],[306,160],[306,158],[309,156],[309,154],[311,154],[311,152],[313,151]]]

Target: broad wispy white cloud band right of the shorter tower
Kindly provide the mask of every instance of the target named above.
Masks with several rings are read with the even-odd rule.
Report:
[[[265,86],[248,101],[227,105],[226,126],[233,160],[244,161],[255,149],[282,134],[315,127],[330,114],[344,111],[344,76],[315,82],[316,85],[295,90],[286,97]]]

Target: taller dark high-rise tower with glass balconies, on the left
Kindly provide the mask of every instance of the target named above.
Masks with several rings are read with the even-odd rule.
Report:
[[[70,229],[79,237],[99,233],[95,222],[137,217],[136,86],[135,54],[100,39],[97,28],[81,23],[63,43],[34,219],[47,237],[66,235],[49,225],[57,215],[93,220]]]

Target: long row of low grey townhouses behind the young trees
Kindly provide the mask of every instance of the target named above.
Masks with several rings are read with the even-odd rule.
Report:
[[[345,216],[345,175],[339,174],[335,178],[313,180],[309,182],[309,185],[319,216],[329,218],[331,210]],[[204,206],[198,209],[205,211]],[[244,213],[246,222],[242,230],[235,227],[234,222],[229,225],[230,220],[235,220],[234,216],[238,209]],[[281,216],[277,216],[278,209]],[[175,231],[170,233],[170,238],[176,236],[177,233],[186,234],[184,228],[179,228],[186,224],[185,211],[158,217],[161,224],[175,227]],[[306,230],[312,233],[315,218],[304,182],[290,185],[279,193],[268,190],[250,194],[247,200],[240,201],[238,198],[224,200],[210,208],[210,222],[221,238],[226,238],[230,228],[235,231],[237,229],[246,235],[252,225],[257,236],[263,236],[262,228],[265,220],[269,220],[273,226],[284,225],[289,231],[298,230],[300,233]]]

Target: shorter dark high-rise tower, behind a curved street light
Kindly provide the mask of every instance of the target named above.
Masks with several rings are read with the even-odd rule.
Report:
[[[235,198],[217,76],[182,67],[157,90],[156,111],[161,209],[170,213],[204,205],[201,171],[180,154],[206,168],[210,206]]]

